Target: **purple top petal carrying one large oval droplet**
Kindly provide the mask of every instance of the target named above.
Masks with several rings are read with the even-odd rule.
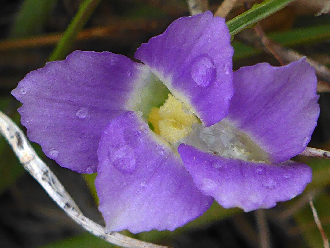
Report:
[[[207,11],[172,22],[134,56],[210,126],[228,112],[233,95],[232,55],[225,19]]]

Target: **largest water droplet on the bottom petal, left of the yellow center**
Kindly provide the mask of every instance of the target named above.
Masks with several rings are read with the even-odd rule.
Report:
[[[136,168],[134,151],[128,145],[122,145],[109,156],[114,166],[121,172],[132,172]]]

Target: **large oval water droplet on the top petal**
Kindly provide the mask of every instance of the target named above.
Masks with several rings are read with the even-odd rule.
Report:
[[[200,56],[191,66],[190,73],[196,84],[207,87],[215,80],[216,69],[209,56]]]

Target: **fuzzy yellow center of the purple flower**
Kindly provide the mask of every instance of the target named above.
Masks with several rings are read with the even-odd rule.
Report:
[[[159,108],[151,108],[148,121],[155,134],[170,144],[176,144],[192,132],[192,125],[198,122],[190,108],[171,94]]]

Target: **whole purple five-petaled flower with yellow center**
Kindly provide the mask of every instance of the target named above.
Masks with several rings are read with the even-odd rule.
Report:
[[[108,229],[173,230],[214,199],[270,208],[311,181],[307,165],[288,159],[316,125],[314,69],[303,59],[232,72],[232,55],[224,19],[206,12],[142,44],[134,56],[144,64],[75,51],[30,72],[12,94],[47,156],[98,172]]]

